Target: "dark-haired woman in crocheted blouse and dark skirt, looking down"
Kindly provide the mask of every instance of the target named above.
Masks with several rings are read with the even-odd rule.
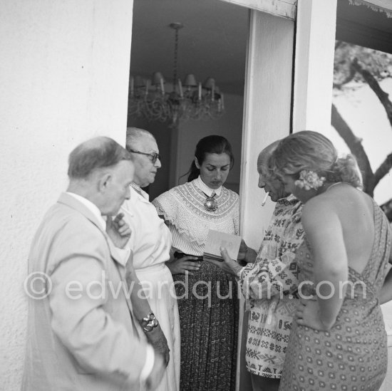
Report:
[[[153,204],[172,233],[173,274],[180,312],[180,390],[234,390],[238,300],[233,276],[202,262],[209,229],[238,234],[239,197],[223,184],[234,163],[225,137],[196,146],[188,182]]]

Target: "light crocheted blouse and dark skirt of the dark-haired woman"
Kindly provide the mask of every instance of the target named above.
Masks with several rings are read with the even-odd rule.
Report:
[[[202,256],[209,229],[238,234],[239,196],[222,187],[218,209],[209,212],[197,183],[174,187],[153,204],[169,226],[173,250]],[[202,261],[193,275],[175,274],[173,279],[180,313],[180,390],[234,391],[239,317],[235,277]]]

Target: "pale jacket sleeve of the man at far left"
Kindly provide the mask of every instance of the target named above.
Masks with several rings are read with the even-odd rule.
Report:
[[[96,227],[68,228],[53,244],[56,268],[50,273],[49,295],[53,331],[82,373],[98,372],[131,387],[140,380],[148,345],[103,308],[111,294],[107,269],[113,262],[103,236],[93,232]],[[124,300],[128,310],[124,296],[111,300]]]

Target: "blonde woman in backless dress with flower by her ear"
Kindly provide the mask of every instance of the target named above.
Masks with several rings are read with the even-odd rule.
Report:
[[[317,132],[284,138],[272,167],[304,203],[296,252],[301,305],[279,390],[368,390],[386,375],[386,331],[378,297],[390,300],[391,228],[361,192],[354,157],[337,156]]]

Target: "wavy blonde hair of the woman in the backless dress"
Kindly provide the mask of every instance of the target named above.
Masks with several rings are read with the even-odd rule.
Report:
[[[269,159],[269,167],[276,177],[310,170],[328,182],[346,182],[362,188],[362,177],[354,155],[339,157],[332,142],[319,132],[302,130],[284,137]]]

